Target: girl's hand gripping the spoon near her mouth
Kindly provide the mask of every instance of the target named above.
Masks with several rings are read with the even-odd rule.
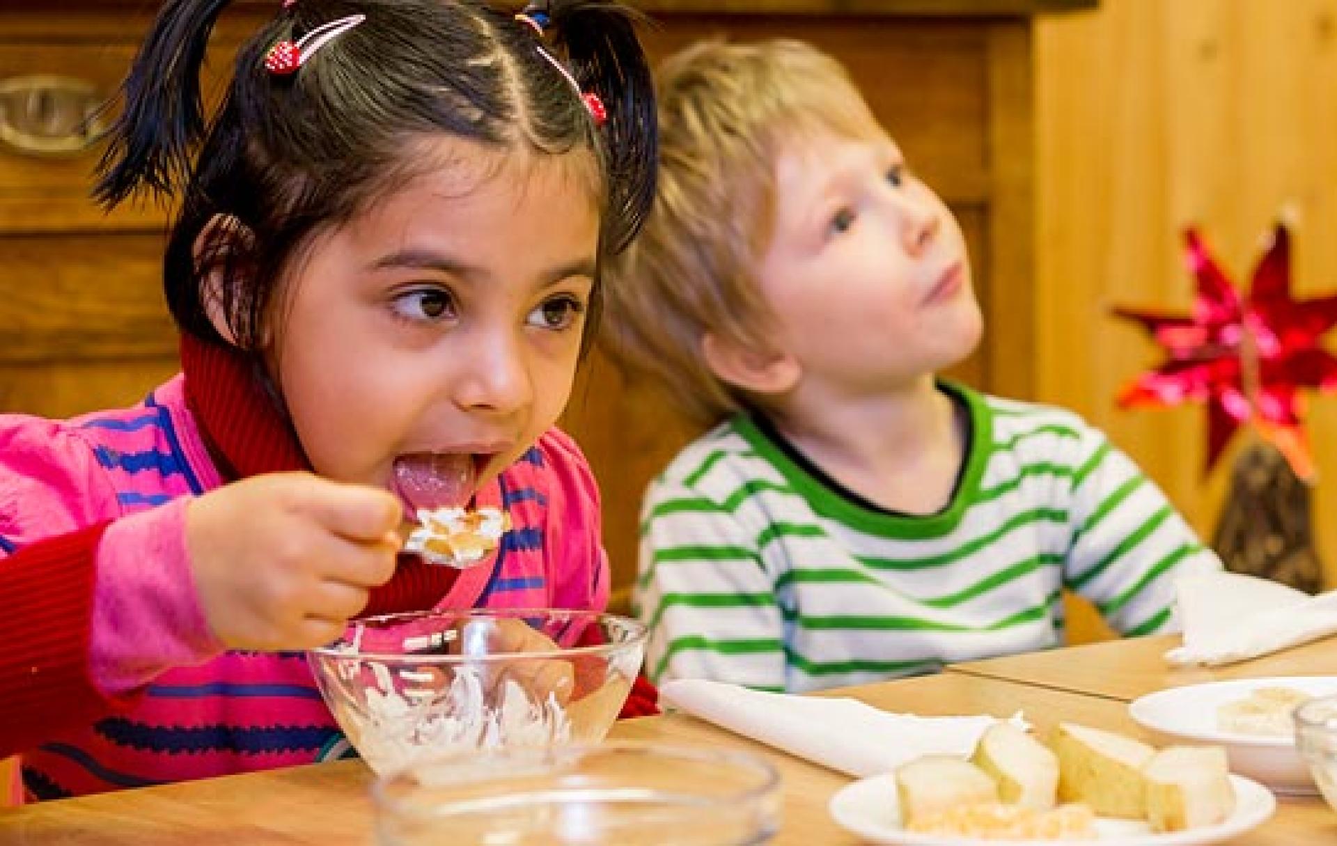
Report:
[[[389,581],[400,503],[310,473],[255,476],[186,508],[199,603],[230,650],[305,650],[344,633]]]

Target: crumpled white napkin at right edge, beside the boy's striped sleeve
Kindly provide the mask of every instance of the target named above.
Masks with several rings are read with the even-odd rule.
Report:
[[[1229,664],[1337,632],[1337,591],[1310,596],[1269,579],[1213,572],[1175,583],[1183,646],[1175,666]]]

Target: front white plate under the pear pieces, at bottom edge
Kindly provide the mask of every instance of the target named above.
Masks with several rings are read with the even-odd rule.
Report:
[[[1230,777],[1235,789],[1235,811],[1223,822],[1189,831],[1152,834],[1144,822],[1107,819],[1095,822],[1102,846],[1197,846],[1219,843],[1255,829],[1277,810],[1277,799],[1258,782]],[[893,846],[1051,846],[1055,841],[985,841],[971,837],[937,837],[917,834],[901,827],[896,803],[896,777],[874,775],[846,785],[832,797],[828,806],[832,818],[869,843]]]

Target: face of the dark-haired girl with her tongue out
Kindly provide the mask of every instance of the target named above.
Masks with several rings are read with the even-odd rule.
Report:
[[[448,162],[318,235],[285,279],[271,373],[317,473],[467,504],[554,425],[594,286],[582,154]]]

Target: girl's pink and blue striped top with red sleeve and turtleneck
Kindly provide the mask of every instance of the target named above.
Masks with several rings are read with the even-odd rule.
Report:
[[[222,651],[203,623],[187,499],[303,462],[246,368],[194,341],[183,360],[131,409],[0,416],[0,755],[23,752],[29,798],[349,751],[302,654]],[[491,564],[455,577],[405,561],[369,612],[604,605],[598,492],[567,436],[548,432],[477,499],[511,513]]]

